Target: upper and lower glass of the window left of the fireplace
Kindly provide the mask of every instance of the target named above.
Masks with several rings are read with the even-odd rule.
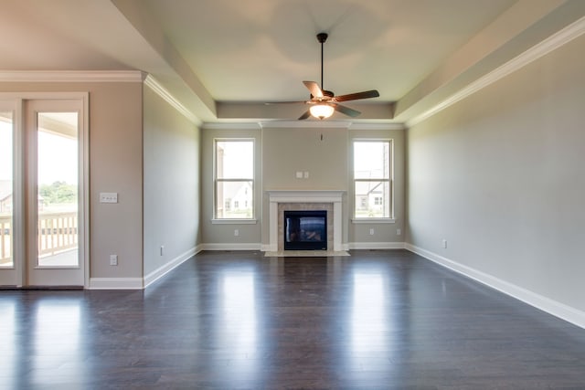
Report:
[[[253,140],[215,140],[214,182],[216,219],[254,217]]]

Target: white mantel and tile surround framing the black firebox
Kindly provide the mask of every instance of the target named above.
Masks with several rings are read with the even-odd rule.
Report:
[[[345,191],[336,190],[271,190],[266,191],[270,201],[269,237],[267,251],[283,250],[283,210],[327,210],[327,250],[343,251],[342,197]],[[332,248],[333,247],[333,248]]]

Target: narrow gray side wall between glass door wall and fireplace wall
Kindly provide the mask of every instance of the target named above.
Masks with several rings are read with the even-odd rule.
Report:
[[[144,276],[197,247],[199,137],[191,121],[144,88]]]

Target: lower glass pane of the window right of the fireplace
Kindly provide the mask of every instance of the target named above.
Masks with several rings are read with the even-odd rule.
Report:
[[[380,181],[357,181],[356,218],[390,217],[390,183]]]

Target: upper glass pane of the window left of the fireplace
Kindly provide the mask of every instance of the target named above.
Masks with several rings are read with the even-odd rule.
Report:
[[[254,142],[217,141],[216,177],[251,179],[254,177]]]

